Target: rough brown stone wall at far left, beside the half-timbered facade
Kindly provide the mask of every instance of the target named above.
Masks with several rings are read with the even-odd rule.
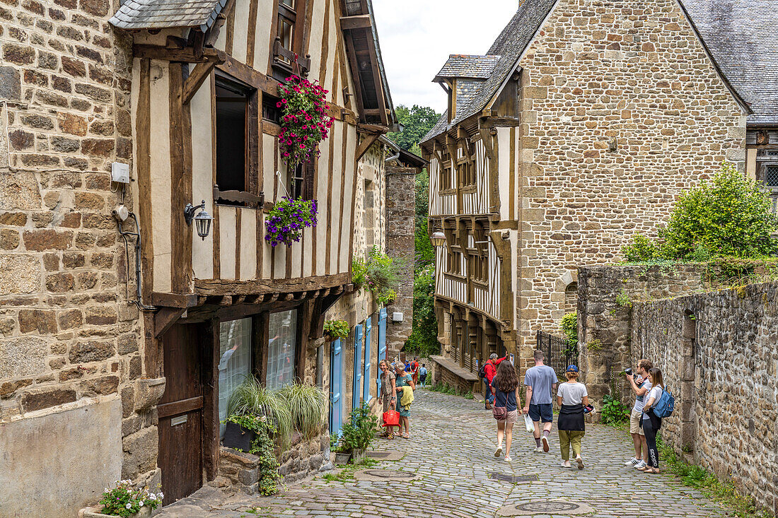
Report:
[[[118,475],[136,478],[156,472],[156,414],[135,404],[141,330],[110,215],[123,198],[110,163],[129,163],[132,149],[131,41],[110,28],[110,12],[107,0],[0,8],[0,423],[66,425],[57,409],[119,394],[122,420],[105,432],[123,438]],[[103,459],[93,462],[85,471],[100,471]],[[4,474],[21,479],[19,469]],[[82,481],[65,470],[47,485],[91,495]],[[75,515],[70,502],[59,513]]]

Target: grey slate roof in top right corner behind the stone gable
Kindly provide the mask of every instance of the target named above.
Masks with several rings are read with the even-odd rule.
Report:
[[[748,124],[778,124],[778,2],[682,0],[713,59],[753,114]]]

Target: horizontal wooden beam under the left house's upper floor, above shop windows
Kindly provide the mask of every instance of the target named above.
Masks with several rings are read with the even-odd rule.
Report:
[[[336,275],[318,275],[302,278],[251,279],[249,281],[230,281],[223,279],[195,280],[195,292],[200,295],[255,295],[268,294],[272,302],[279,293],[300,292],[309,289],[331,288],[351,282],[349,273]],[[275,297],[275,298],[274,298]]]

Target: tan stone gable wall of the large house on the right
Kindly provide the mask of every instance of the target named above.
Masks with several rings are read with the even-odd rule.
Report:
[[[618,260],[679,193],[742,168],[745,115],[675,0],[562,0],[519,67],[524,357],[558,329],[577,264]]]

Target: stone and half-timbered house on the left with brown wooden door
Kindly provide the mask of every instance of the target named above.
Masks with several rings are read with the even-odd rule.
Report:
[[[397,121],[372,6],[291,3],[0,8],[3,516],[75,516],[118,478],[161,483],[167,503],[232,473],[219,421],[240,380],[330,390],[324,320],[350,318],[349,300],[370,308],[354,324],[375,311],[351,264],[371,240],[391,247],[379,137]],[[328,89],[333,125],[287,170],[291,72]],[[318,225],[272,247],[284,194],[317,199]],[[201,200],[202,239],[185,216]],[[288,478],[328,444],[297,445]]]

